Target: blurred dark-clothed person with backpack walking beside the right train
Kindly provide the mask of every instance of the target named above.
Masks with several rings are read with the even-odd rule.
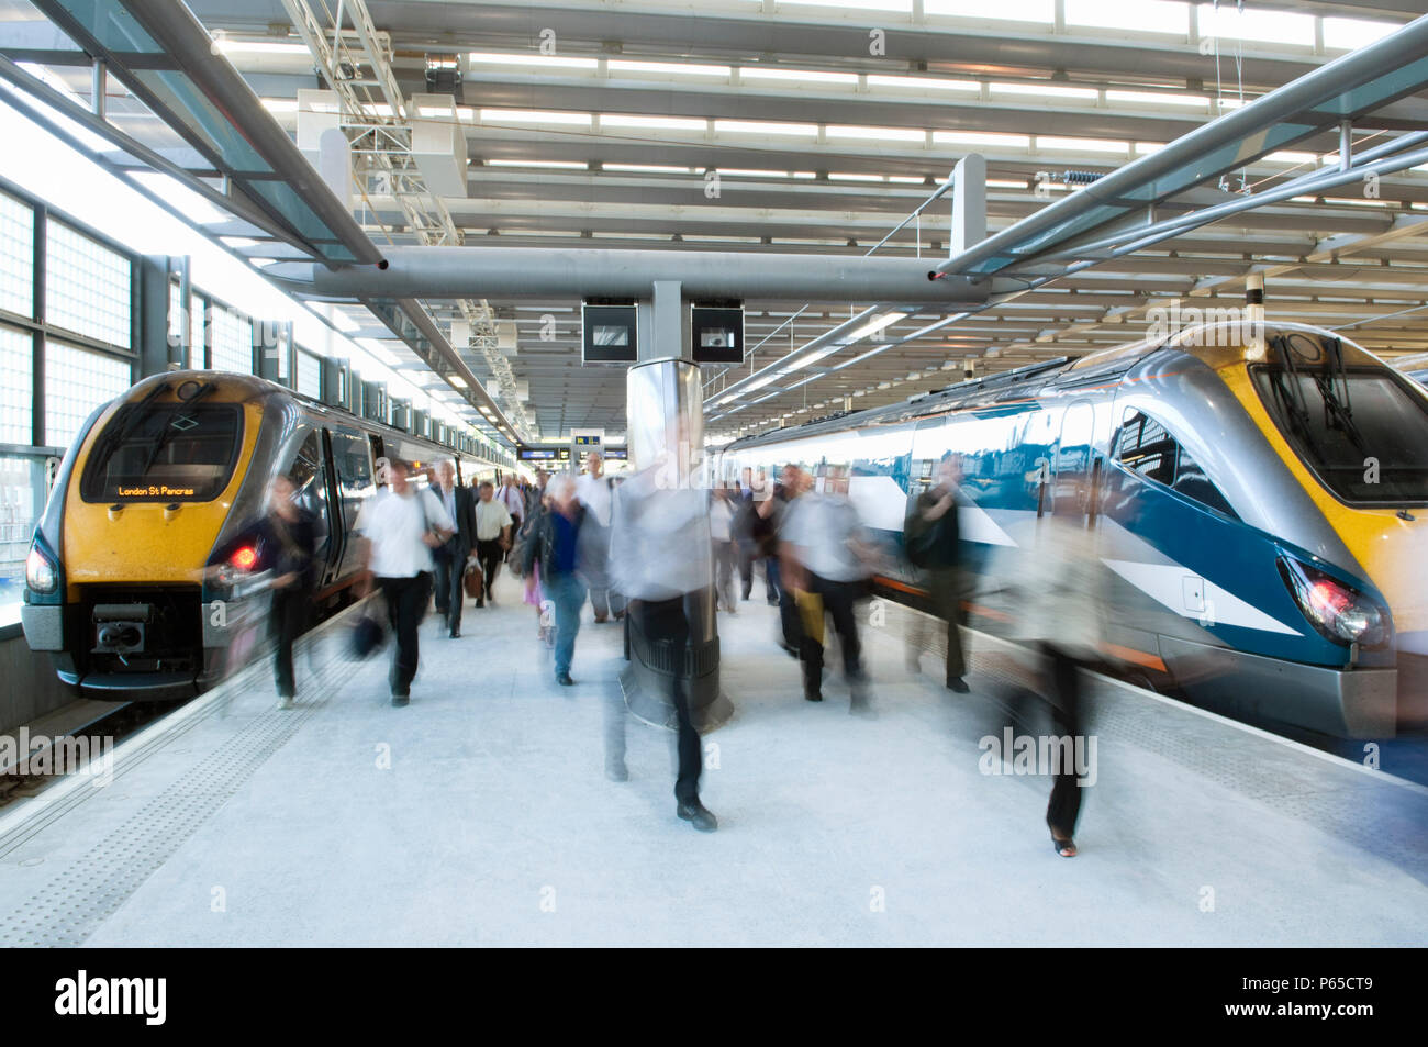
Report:
[[[961,467],[951,451],[937,463],[935,483],[917,496],[902,524],[907,558],[927,571],[927,591],[937,617],[947,623],[947,688],[967,694],[967,657],[961,627],[967,624],[962,607],[965,573],[961,566],[961,530],[958,499]],[[908,630],[907,666],[918,671],[922,648],[922,618]]]

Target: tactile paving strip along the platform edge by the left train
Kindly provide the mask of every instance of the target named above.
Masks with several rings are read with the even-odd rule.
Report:
[[[0,946],[81,944],[358,671],[361,663],[346,660],[338,648],[340,644],[327,647],[326,664],[304,687],[310,697],[304,697],[296,708],[271,708],[260,714],[113,828],[21,907],[0,918]],[[244,671],[226,687],[243,688],[256,683],[264,667],[250,667],[257,671]],[[214,703],[207,716],[221,711],[223,701]]]

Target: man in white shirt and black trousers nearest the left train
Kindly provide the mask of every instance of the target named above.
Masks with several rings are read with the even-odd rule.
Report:
[[[367,570],[387,600],[387,617],[397,637],[391,664],[391,704],[406,706],[417,674],[417,627],[431,597],[436,563],[431,550],[456,530],[456,523],[430,490],[417,491],[407,479],[410,464],[393,459],[387,489],[368,499],[357,514],[366,538]],[[368,581],[368,591],[371,583]]]

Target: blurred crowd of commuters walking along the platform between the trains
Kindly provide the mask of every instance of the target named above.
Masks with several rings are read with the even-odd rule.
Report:
[[[416,483],[417,470],[384,461],[384,484],[358,514],[366,578],[361,594],[380,591],[390,630],[391,703],[406,706],[420,660],[418,626],[434,598],[450,638],[461,637],[463,607],[496,603],[503,567],[521,578],[524,604],[534,608],[538,643],[551,648],[554,678],[573,677],[575,640],[588,603],[593,623],[627,623],[628,637],[664,651],[657,657],[675,727],[678,817],[711,831],[717,818],[698,797],[701,776],[700,710],[695,707],[697,647],[704,628],[701,601],[737,614],[763,577],[764,600],[778,608],[777,644],[800,664],[803,697],[823,701],[825,653],[837,641],[850,693],[850,711],[873,718],[877,707],[864,666],[860,604],[873,593],[873,577],[888,568],[890,554],[864,526],[850,497],[843,466],[823,464],[817,476],[790,463],[773,476],[743,469],[737,480],[713,490],[670,489],[655,469],[618,483],[593,451],[581,474],[541,471],[534,483],[506,476],[500,484],[457,483],[456,467],[440,463]],[[298,479],[278,477],[270,509],[253,534],[276,571],[271,628],[277,640],[276,674],[284,706],[294,694],[291,650],[310,606],[316,517],[300,507]],[[902,554],[920,574],[927,608],[945,626],[945,687],[970,690],[961,628],[967,620],[970,573],[962,566],[960,517],[968,504],[958,460],[947,454],[925,489],[908,499]],[[1040,523],[1040,521],[1038,521]],[[1037,531],[1041,596],[1027,601],[1018,637],[1041,658],[1041,690],[1054,721],[1080,730],[1078,668],[1094,660],[1097,636],[1084,608],[1091,563],[1084,533],[1060,517]],[[735,591],[737,576],[737,591]],[[927,617],[911,616],[907,660],[920,671]],[[705,631],[713,631],[705,630]],[[831,636],[830,636],[831,633]],[[373,644],[368,644],[373,646]],[[605,773],[628,777],[624,767],[623,706],[607,717]],[[1074,774],[1057,774],[1047,811],[1057,853],[1074,856],[1072,831],[1080,811]]]

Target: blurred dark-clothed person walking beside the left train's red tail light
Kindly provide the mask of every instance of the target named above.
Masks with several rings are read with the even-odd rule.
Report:
[[[291,708],[297,696],[293,643],[307,628],[317,583],[318,520],[294,500],[298,491],[291,477],[274,477],[268,487],[267,513],[214,556],[216,563],[226,563],[240,550],[250,548],[253,558],[248,570],[273,574],[268,634],[276,646],[273,670],[281,708]]]

